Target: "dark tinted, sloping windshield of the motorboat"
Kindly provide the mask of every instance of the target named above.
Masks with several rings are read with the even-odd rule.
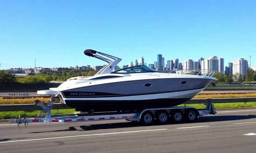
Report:
[[[125,69],[120,69],[112,73],[145,73],[145,72],[156,72],[154,69],[147,67],[146,65],[132,66]]]

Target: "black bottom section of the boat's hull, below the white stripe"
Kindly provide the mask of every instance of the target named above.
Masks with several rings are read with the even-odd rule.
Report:
[[[172,107],[185,103],[191,98],[162,98],[149,100],[65,100],[66,105],[76,111],[129,111],[144,108]]]

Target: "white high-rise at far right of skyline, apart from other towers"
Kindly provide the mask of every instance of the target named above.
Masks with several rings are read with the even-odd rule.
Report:
[[[233,61],[233,72],[232,74],[239,73],[242,77],[246,74],[248,69],[248,61],[244,58],[240,58],[238,60]]]

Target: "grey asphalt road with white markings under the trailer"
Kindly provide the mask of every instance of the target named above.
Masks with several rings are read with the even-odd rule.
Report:
[[[247,134],[247,135],[246,135]],[[256,152],[256,109],[219,110],[196,123],[143,127],[126,120],[0,123],[1,153]]]

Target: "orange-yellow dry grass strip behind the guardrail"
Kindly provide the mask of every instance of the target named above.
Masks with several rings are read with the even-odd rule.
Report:
[[[256,93],[248,94],[211,94],[211,95],[197,95],[194,99],[206,99],[206,98],[244,98],[244,97],[256,97]],[[35,100],[38,99],[44,103],[47,103],[49,98],[1,98],[0,105],[11,105],[11,104],[34,104]]]

